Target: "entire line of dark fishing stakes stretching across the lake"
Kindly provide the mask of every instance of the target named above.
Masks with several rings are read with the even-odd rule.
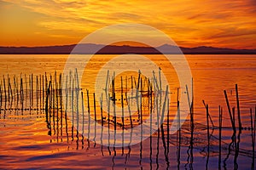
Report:
[[[66,81],[63,81],[63,77],[66,77]],[[119,84],[119,85],[118,85]],[[99,124],[102,124],[102,126],[113,128],[113,129],[123,129],[125,128],[132,128],[137,126],[140,123],[143,123],[143,120],[145,119],[145,116],[143,115],[143,111],[148,108],[148,112],[150,116],[152,116],[152,111],[154,108],[157,110],[157,113],[159,114],[157,124],[160,125],[159,129],[157,130],[157,147],[160,147],[160,139],[162,139],[162,145],[165,147],[165,156],[166,159],[168,159],[168,153],[169,153],[169,144],[172,140],[171,135],[169,133],[170,129],[170,123],[169,120],[169,110],[167,113],[164,112],[165,107],[163,104],[166,105],[167,108],[169,108],[170,102],[169,99],[166,98],[167,95],[161,96],[157,95],[156,92],[162,91],[161,87],[161,81],[160,81],[160,75],[159,77],[155,77],[153,80],[149,80],[147,77],[142,77],[139,73],[137,77],[121,77],[120,82],[116,82],[116,79],[109,76],[107,77],[106,81],[106,87],[110,86],[111,90],[107,91],[105,90],[105,94],[102,94],[102,97],[100,99],[100,106],[98,107],[96,105],[96,94],[92,93],[90,94],[90,91],[88,89],[81,89],[79,87],[79,81],[78,81],[78,73],[77,71],[70,72],[69,75],[62,75],[55,72],[53,75],[44,74],[39,76],[34,75],[20,75],[20,77],[9,77],[3,76],[3,79],[0,82],[0,114],[3,113],[3,111],[14,111],[15,115],[23,115],[23,113],[29,112],[29,114],[33,114],[35,111],[37,111],[38,114],[45,114],[45,121],[47,122],[47,127],[49,128],[49,135],[57,135],[62,136],[63,129],[65,127],[66,136],[67,139],[69,136],[72,137],[72,140],[74,138],[74,134],[76,133],[77,139],[79,139],[79,133],[84,133],[84,129],[87,129],[88,135],[85,136],[86,139],[95,139],[96,136],[90,136],[90,131],[94,132],[96,134],[96,129],[90,129],[90,125],[88,127],[85,127],[84,125],[86,123],[84,122],[90,122],[88,120],[84,120],[84,113],[85,110],[87,110],[87,113],[89,114],[89,118],[94,118]],[[119,87],[120,86],[120,87]],[[139,102],[137,101],[137,112],[136,114],[131,114],[128,117],[122,116],[121,118],[116,116],[115,114],[115,106],[111,105],[111,101],[113,101],[114,104],[117,102],[120,103],[122,109],[124,108],[124,105],[127,105],[128,110],[131,109],[131,98],[127,97],[127,89],[130,88],[136,88],[137,92],[140,91],[143,95],[137,98],[137,100],[143,100],[143,103],[146,103],[147,105],[137,105]],[[105,88],[107,89],[107,88]],[[168,94],[168,88],[166,88],[166,94]],[[187,94],[188,88],[186,89]],[[85,93],[84,93],[85,92]],[[137,93],[136,92],[136,93]],[[180,122],[180,114],[179,114],[179,99],[178,99],[178,93],[179,90],[177,89],[177,118],[178,122]],[[193,90],[192,90],[193,93]],[[64,95],[64,96],[63,96]],[[138,96],[138,95],[136,95]],[[107,99],[108,103],[108,112],[102,111],[102,105],[103,105],[103,99]],[[255,154],[255,129],[256,129],[256,111],[253,116],[253,110],[250,109],[248,112],[250,113],[251,117],[251,126],[250,127],[242,127],[241,122],[241,111],[240,111],[240,105],[239,105],[239,94],[238,94],[238,88],[236,85],[236,107],[231,108],[230,107],[230,101],[228,99],[228,95],[226,91],[224,91],[224,98],[226,99],[226,105],[228,109],[228,115],[230,116],[230,124],[231,129],[233,130],[232,134],[232,142],[229,144],[229,152],[228,155],[224,158],[224,166],[226,166],[226,161],[228,160],[230,154],[232,154],[232,148],[231,145],[235,145],[234,150],[234,156],[235,160],[237,159],[238,153],[241,153],[241,148],[239,147],[240,143],[240,134],[241,130],[249,129],[251,130],[251,136],[252,136],[252,157],[253,157],[253,163],[252,167],[254,168],[254,154]],[[156,102],[154,105],[154,100],[158,100],[162,102],[161,104]],[[192,99],[189,99],[189,105],[191,105],[190,108],[190,140],[189,140],[189,152],[190,152],[190,162],[193,162],[193,148],[195,145],[194,141],[194,131],[195,131],[195,118],[194,118],[194,99],[192,95]],[[69,101],[69,102],[68,102]],[[72,101],[72,102],[70,102]],[[73,103],[73,105],[70,105]],[[69,104],[69,105],[68,105]],[[207,120],[207,162],[209,160],[210,156],[210,145],[212,141],[212,134],[210,133],[210,129],[214,129],[215,127],[218,128],[218,162],[219,167],[221,167],[222,162],[222,152],[224,146],[222,145],[222,122],[223,122],[223,107],[219,106],[219,121],[218,126],[214,125],[212,122],[212,117],[210,115],[210,109],[209,105],[207,105],[204,101],[203,104],[206,108],[206,120]],[[78,105],[82,106],[81,111],[78,110]],[[100,109],[97,109],[100,108]],[[255,108],[256,110],[256,108]],[[68,111],[71,112],[72,117],[68,117]],[[113,111],[113,116],[111,116],[110,111]],[[122,110],[123,111],[123,110]],[[79,113],[82,113],[82,119],[79,120]],[[237,113],[237,114],[236,114]],[[122,112],[123,114],[123,112]],[[167,114],[167,120],[163,124],[162,117],[164,114]],[[70,113],[68,114],[70,115]],[[235,119],[237,116],[237,119]],[[151,117],[150,117],[151,118]],[[126,119],[126,120],[125,120]],[[152,121],[152,119],[151,119]],[[79,122],[83,122],[79,124]],[[236,123],[237,122],[237,123]],[[75,126],[75,127],[74,127]],[[79,126],[83,126],[82,130],[83,132],[78,132],[77,129],[79,129]],[[72,128],[71,135],[68,134],[69,127]],[[155,130],[155,129],[152,129]],[[237,133],[238,131],[238,133]],[[180,152],[181,152],[181,146],[183,145],[183,134],[182,129],[179,129],[176,133],[177,135],[177,157],[180,158]],[[79,141],[79,140],[77,140]],[[89,140],[88,144],[90,144]],[[82,144],[84,144],[84,136],[82,136]],[[152,136],[150,136],[150,144],[152,144]],[[141,146],[142,148],[143,146]],[[108,148],[110,151],[110,149]],[[177,159],[177,166],[179,166],[179,159]],[[235,166],[237,168],[237,165]],[[207,165],[206,165],[207,168]]]

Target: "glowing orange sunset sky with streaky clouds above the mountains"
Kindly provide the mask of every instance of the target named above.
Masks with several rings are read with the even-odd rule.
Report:
[[[0,0],[0,46],[73,44],[127,22],[154,26],[183,47],[256,48],[255,0]]]

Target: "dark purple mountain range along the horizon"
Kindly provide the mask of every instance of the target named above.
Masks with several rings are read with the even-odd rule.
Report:
[[[74,50],[73,50],[74,49]],[[169,44],[164,44],[156,48],[135,47],[135,46],[117,46],[102,45],[93,43],[72,44],[63,46],[45,46],[45,47],[0,47],[0,54],[256,54],[256,49],[233,49],[233,48],[177,48]]]

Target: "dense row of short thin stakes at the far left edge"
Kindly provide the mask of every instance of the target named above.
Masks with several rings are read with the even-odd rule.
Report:
[[[0,111],[44,111],[49,76],[21,75],[3,76],[0,82]],[[57,80],[56,72],[54,79]],[[61,80],[60,80],[61,81]],[[19,111],[19,112],[18,112]]]

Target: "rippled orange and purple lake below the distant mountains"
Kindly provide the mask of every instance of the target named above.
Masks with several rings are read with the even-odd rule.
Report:
[[[145,56],[150,60],[150,62],[153,61],[160,67],[162,74],[165,75],[167,82],[169,82],[170,87],[168,95],[170,95],[170,106],[168,107],[168,111],[170,111],[169,117],[172,121],[177,109],[176,98],[177,88],[179,88],[178,78],[180,77],[177,77],[176,71],[163,56]],[[55,74],[59,75],[64,70],[67,57],[68,55],[61,54],[0,55],[0,71],[1,74],[4,75],[6,88],[9,87],[9,77],[9,82],[12,84],[11,91],[13,90],[13,94],[10,97],[11,99],[6,96],[6,99],[2,99],[4,94],[4,82],[3,77],[1,77],[0,167],[2,169],[216,169],[218,167],[224,169],[236,169],[238,167],[241,169],[253,168],[255,153],[253,153],[251,138],[252,131],[250,130],[250,109],[252,109],[254,116],[256,105],[256,55],[185,55],[192,73],[194,88],[193,123],[195,123],[195,127],[193,128],[192,133],[191,119],[188,115],[186,117],[181,117],[181,119],[186,121],[183,123],[181,130],[177,133],[166,133],[168,122],[167,120],[164,120],[163,128],[155,129],[156,132],[152,135],[149,135],[147,139],[140,143],[123,147],[109,147],[107,145],[95,143],[93,138],[87,140],[87,135],[85,135],[86,133],[82,135],[81,131],[78,132],[76,127],[73,126],[73,121],[81,120],[74,119],[69,114],[67,114],[69,116],[64,116],[64,112],[62,115],[62,110],[59,110],[59,108],[62,108],[62,106],[59,107],[58,105],[61,105],[62,103],[63,108],[67,108],[64,105],[65,93],[62,96],[63,101],[60,100],[61,94],[53,94],[54,96],[58,97],[54,97],[53,99],[55,100],[51,98],[49,98],[49,100],[57,106],[53,106],[51,108],[53,111],[49,110],[52,111],[49,113],[49,117],[45,113],[46,96],[43,97],[42,95],[44,93],[39,90],[42,87],[40,88],[35,84],[39,81],[40,85],[44,84],[41,82],[43,81],[43,76],[45,76],[46,72],[48,82],[49,77],[52,76],[51,82],[55,86],[59,85],[59,87],[65,87],[65,82],[57,83],[57,78],[55,81]],[[86,55],[83,57],[88,58]],[[110,59],[113,59],[113,55],[98,54],[93,59],[91,59],[90,62],[87,63],[84,72],[79,72],[79,74],[83,75],[80,86],[81,90],[79,90],[79,93],[80,91],[84,93],[83,102],[86,106],[84,110],[87,111],[88,105],[86,99],[86,89],[89,89],[90,94],[88,95],[88,99],[90,99],[89,107],[91,116],[93,116],[94,111],[97,112],[96,119],[98,121],[101,120],[101,117],[105,117],[104,120],[108,122],[108,113],[104,112],[103,116],[99,114],[101,112],[101,107],[100,104],[93,104],[92,101],[95,101],[93,98],[93,92],[96,92],[96,88],[98,88],[95,84],[97,72],[100,71]],[[174,59],[176,59],[178,63],[178,56],[174,56]],[[127,62],[127,60],[123,59],[122,62],[116,62],[116,64],[121,66],[125,62]],[[129,61],[130,68],[126,66],[126,72],[121,76],[117,75],[117,77],[119,77],[115,80],[115,95],[117,95],[117,105],[122,105],[119,101],[123,101],[122,95],[118,93],[118,90],[121,89],[119,83],[120,80],[122,79],[124,81],[124,89],[127,87],[130,89],[133,85],[127,84],[133,83],[135,83],[134,86],[136,87],[138,75],[134,71],[129,72],[129,70],[131,70],[133,65],[137,65],[137,63],[142,65],[144,69],[147,69],[149,68],[148,65],[150,65],[150,62],[141,59],[133,59]],[[76,63],[76,65],[80,64],[81,63]],[[119,69],[118,66],[111,65],[111,63],[108,66],[110,66],[110,68],[113,70]],[[21,86],[17,85],[20,84],[20,81],[17,81],[19,83],[15,83],[15,80],[20,80],[20,77],[22,77],[24,81],[23,84],[25,85],[25,80],[28,84],[28,81],[31,78],[29,75],[31,74],[33,74],[33,88],[37,88],[37,93],[32,93],[31,99],[31,94],[28,91],[29,87],[31,86],[29,85],[28,88],[24,86],[24,89],[22,89],[25,91],[25,99],[22,100],[23,103],[21,104],[21,98],[19,100],[18,97],[19,93],[15,94],[15,90],[17,90],[17,92],[20,90],[19,87]],[[156,72],[156,75],[157,74],[158,72]],[[38,78],[36,76],[38,76]],[[67,75],[64,75],[62,78],[65,76]],[[109,75],[110,79],[112,76],[112,74]],[[72,77],[72,80],[75,80],[75,75]],[[106,83],[106,77],[107,73],[102,77],[99,77],[99,79],[102,80],[102,83],[104,82],[104,86]],[[134,79],[131,77],[134,77]],[[135,82],[131,82],[131,80]],[[145,85],[147,84],[147,81],[142,81],[142,83]],[[233,110],[234,107],[234,117],[236,117],[235,124],[236,127],[238,127],[235,88],[236,84],[238,85],[239,91],[242,130],[241,133],[238,133],[238,130],[236,129],[235,137],[233,136],[232,138],[233,129],[224,97],[224,90],[226,90],[229,97],[230,109]],[[77,82],[71,82],[69,83],[69,88],[75,88],[76,85],[78,85]],[[44,86],[45,95],[47,94],[46,89],[48,86]],[[38,91],[40,93],[38,93]],[[108,92],[110,93],[110,90]],[[128,93],[129,90],[126,90],[125,92]],[[57,91],[55,91],[55,93],[57,93]],[[79,100],[72,100],[72,95],[75,94],[67,95],[68,99],[70,97],[70,101],[82,102],[80,97]],[[163,97],[162,100],[164,101],[164,99],[165,98]],[[209,142],[207,141],[207,111],[202,100],[204,100],[208,105],[209,115],[211,116],[212,120],[209,122],[210,129],[208,133],[211,135]],[[59,101],[61,103],[58,104]],[[100,103],[99,101],[100,98],[96,96],[96,102]],[[126,101],[128,100],[126,99]],[[143,101],[142,103],[144,105],[144,103],[149,103],[150,99],[143,98],[141,101]],[[105,102],[108,102],[108,100]],[[73,112],[71,111],[73,106],[70,105],[70,103],[68,104],[69,112]],[[163,103],[160,104],[162,107]],[[21,105],[22,111],[20,109]],[[73,110],[78,111],[78,106],[75,104],[73,105]],[[223,108],[221,154],[219,154],[218,140],[219,105]],[[95,109],[94,106],[96,106]],[[145,111],[145,113],[143,113],[145,115],[142,114],[141,116],[148,116],[148,107],[143,107],[144,108],[141,109],[141,111]],[[24,108],[28,109],[25,110]],[[113,111],[113,108],[111,107],[110,110]],[[51,119],[50,117],[53,118]],[[135,119],[133,120],[135,121],[134,125],[138,126],[139,122],[136,120],[136,117],[134,116],[132,119]],[[138,118],[138,120],[143,120],[143,118]],[[117,121],[122,122],[121,119],[118,119]],[[100,124],[100,122],[98,123]],[[130,120],[128,118],[126,119],[125,117],[124,123],[129,124]],[[113,126],[113,124],[111,124],[111,126]],[[105,127],[109,127],[109,122],[105,124]],[[87,127],[84,127],[84,129],[85,128],[88,131]],[[91,130],[90,133],[96,133],[95,131],[96,130]],[[165,138],[163,138],[163,136]]]

